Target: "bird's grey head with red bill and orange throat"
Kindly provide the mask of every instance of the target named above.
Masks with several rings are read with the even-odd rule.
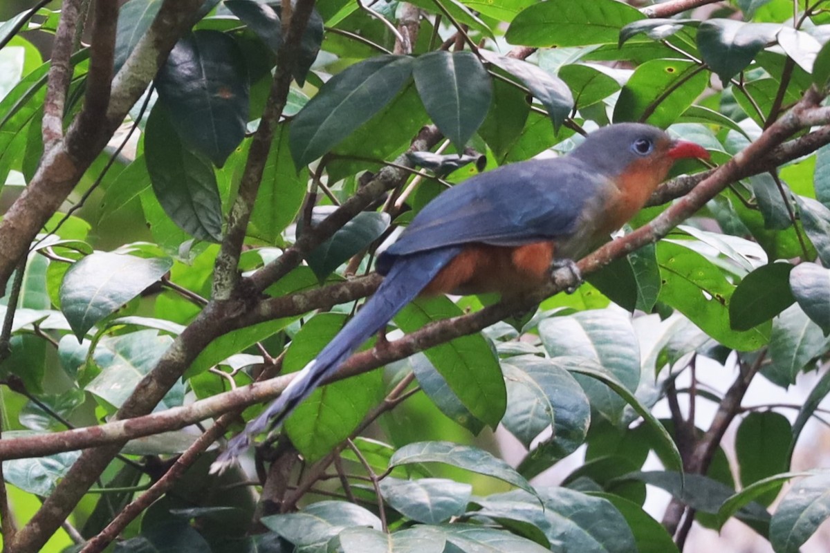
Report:
[[[637,176],[641,186],[652,190],[678,159],[709,158],[700,145],[672,139],[665,131],[642,123],[598,129],[570,155],[614,180]]]

